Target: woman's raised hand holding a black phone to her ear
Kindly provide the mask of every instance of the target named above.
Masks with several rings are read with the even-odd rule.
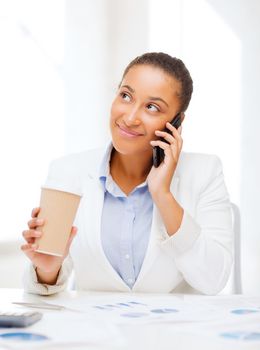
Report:
[[[171,134],[156,130],[155,135],[164,138],[168,143],[162,140],[151,141],[151,145],[162,148],[165,155],[158,168],[152,166],[147,177],[148,187],[152,197],[170,192],[172,177],[182,149],[182,127],[180,126],[177,130],[170,123],[167,123],[166,127],[171,131]]]

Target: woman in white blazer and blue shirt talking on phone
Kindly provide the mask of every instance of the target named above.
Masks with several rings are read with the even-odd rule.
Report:
[[[27,291],[63,290],[72,268],[84,290],[216,294],[225,286],[232,230],[221,163],[181,152],[182,127],[169,123],[184,119],[192,89],[183,62],[167,54],[128,65],[111,108],[111,145],[50,167],[46,187],[83,198],[62,258],[35,251],[43,221],[33,210],[21,247],[32,262]],[[156,146],[165,155],[158,167]]]

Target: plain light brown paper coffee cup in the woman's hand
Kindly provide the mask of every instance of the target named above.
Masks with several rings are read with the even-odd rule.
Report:
[[[44,225],[38,228],[43,235],[36,239],[37,252],[56,256],[64,254],[80,199],[81,196],[74,193],[41,189],[38,218],[44,219]]]

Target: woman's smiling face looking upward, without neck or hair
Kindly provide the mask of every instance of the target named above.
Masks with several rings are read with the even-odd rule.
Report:
[[[180,83],[151,65],[133,66],[112,103],[110,129],[121,154],[152,152],[155,130],[163,130],[178,113]]]

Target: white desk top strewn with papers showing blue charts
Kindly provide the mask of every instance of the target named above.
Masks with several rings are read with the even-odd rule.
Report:
[[[20,310],[20,306],[14,306],[11,302],[42,300],[76,310],[40,310],[44,314],[42,320],[21,329],[51,338],[57,336],[59,341],[64,340],[67,344],[38,342],[42,344],[42,349],[260,349],[260,338],[243,339],[250,334],[258,338],[257,333],[260,333],[260,296],[207,297],[70,291],[42,297],[24,294],[22,290],[0,289],[0,308]],[[132,302],[130,306],[129,302]],[[131,314],[136,317],[129,317]],[[0,333],[6,331],[0,329]],[[236,336],[237,331],[244,332],[240,339],[228,339],[227,335],[223,335],[233,332]],[[18,348],[26,350],[40,346],[20,344]],[[9,342],[8,349],[13,349],[12,346]],[[0,349],[7,347],[0,345]]]

